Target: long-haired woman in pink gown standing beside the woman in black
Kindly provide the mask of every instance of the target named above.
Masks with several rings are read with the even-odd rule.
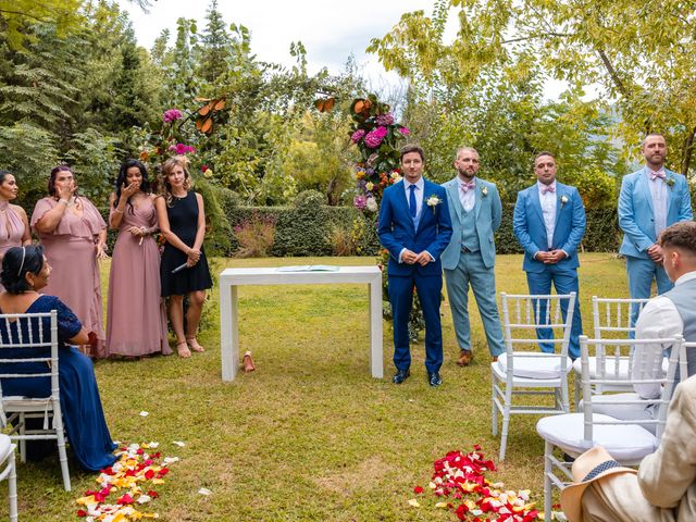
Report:
[[[160,252],[154,195],[137,160],[121,165],[109,198],[109,226],[119,231],[111,260],[107,308],[107,356],[172,353],[160,297]]]

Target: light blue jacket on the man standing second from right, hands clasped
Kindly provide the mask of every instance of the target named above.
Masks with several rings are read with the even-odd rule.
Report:
[[[568,202],[563,203],[567,199]],[[514,235],[524,249],[522,269],[525,272],[544,272],[547,268],[543,262],[534,259],[539,250],[547,250],[546,227],[539,203],[537,184],[518,194],[513,216]],[[556,226],[551,249],[561,249],[568,257],[559,261],[556,266],[575,270],[577,247],[585,235],[585,208],[575,187],[556,182]]]

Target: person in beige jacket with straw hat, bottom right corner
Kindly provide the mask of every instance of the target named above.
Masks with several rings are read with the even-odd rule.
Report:
[[[600,447],[572,467],[561,492],[570,522],[691,522],[696,520],[696,376],[676,386],[660,447],[637,472]]]

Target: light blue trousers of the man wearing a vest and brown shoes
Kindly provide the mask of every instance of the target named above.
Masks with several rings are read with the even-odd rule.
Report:
[[[455,334],[460,350],[471,351],[471,324],[469,321],[469,286],[476,298],[478,314],[488,343],[488,351],[497,357],[505,351],[500,315],[496,302],[496,273],[483,263],[481,252],[464,252],[455,270],[445,270],[447,297],[452,311]]]

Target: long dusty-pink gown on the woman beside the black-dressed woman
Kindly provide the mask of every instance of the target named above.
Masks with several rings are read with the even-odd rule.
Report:
[[[109,277],[107,356],[166,356],[172,349],[160,297],[160,251],[152,236],[140,240],[130,234],[132,226],[157,226],[157,211],[150,198],[134,206],[133,212],[126,206],[119,225]]]

